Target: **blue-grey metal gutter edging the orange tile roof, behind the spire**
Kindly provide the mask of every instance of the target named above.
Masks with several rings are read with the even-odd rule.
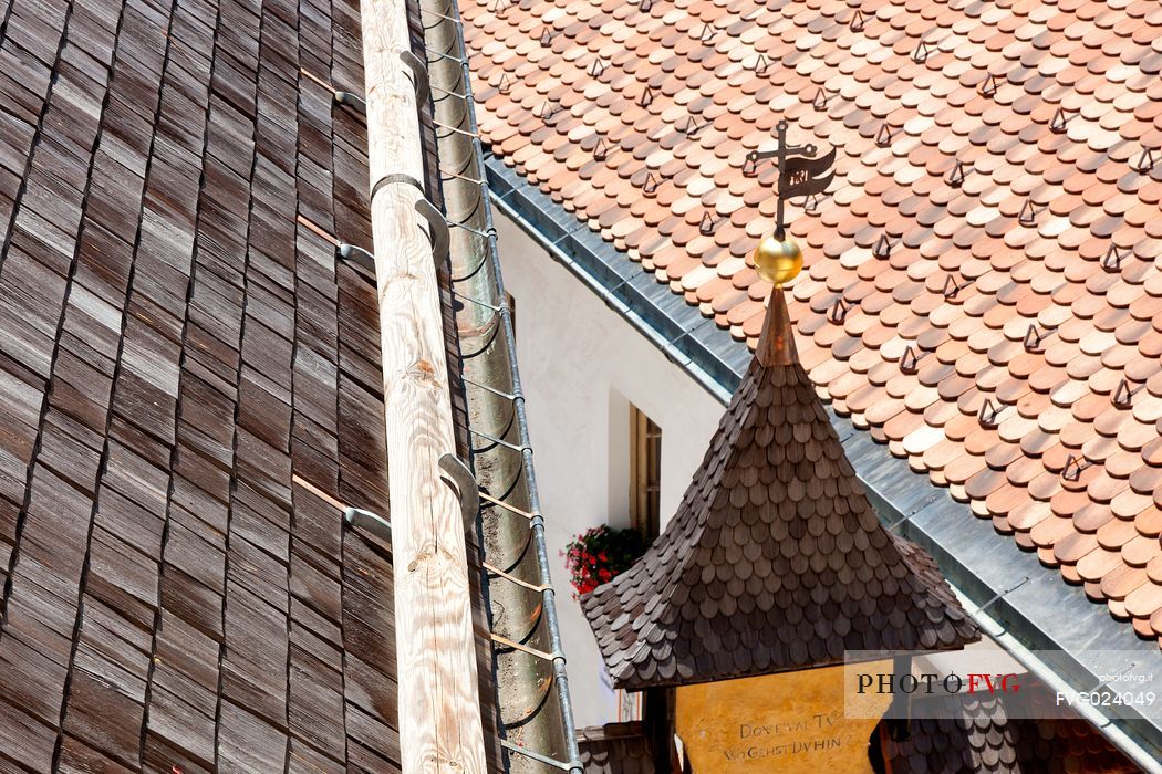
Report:
[[[557,261],[595,290],[611,309],[724,405],[749,362],[749,350],[718,330],[683,298],[580,224],[575,216],[529,185],[493,154],[485,157],[497,208]],[[683,332],[688,331],[683,335]],[[1157,646],[1114,621],[1105,606],[1047,571],[1035,555],[997,535],[948,491],[891,456],[869,433],[827,407],[844,449],[880,519],[923,545],[937,559],[977,623],[1053,687],[1088,690],[1097,674],[1150,672]],[[1028,581],[1013,585],[1023,577]],[[1061,614],[1069,610],[1068,616]],[[994,635],[994,632],[996,632]],[[1061,650],[1047,665],[1031,651]],[[1112,651],[1141,654],[1135,667],[1112,663]],[[1114,708],[1102,708],[1113,710]],[[1093,709],[1086,717],[1112,744],[1147,771],[1160,771],[1162,725],[1126,708]]]

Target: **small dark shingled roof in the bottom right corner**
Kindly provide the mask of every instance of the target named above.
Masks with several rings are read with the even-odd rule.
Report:
[[[959,717],[913,718],[909,738],[882,736],[892,774],[968,774],[969,772],[1086,772],[1134,774],[1141,769],[1118,752],[1085,719],[1059,709],[1043,685],[1021,685],[1026,701],[1042,708],[1039,719],[1009,717],[1002,702],[948,697],[940,701]],[[934,712],[933,712],[934,714]]]

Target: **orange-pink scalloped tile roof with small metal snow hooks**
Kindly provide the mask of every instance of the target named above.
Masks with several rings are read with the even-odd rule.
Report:
[[[858,6],[858,7],[856,7]],[[754,346],[790,142],[791,316],[835,410],[1162,635],[1155,0],[476,0],[495,153]]]

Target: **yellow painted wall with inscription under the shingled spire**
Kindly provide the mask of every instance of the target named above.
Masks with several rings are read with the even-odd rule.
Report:
[[[890,671],[891,661],[882,666]],[[862,716],[849,719],[844,672],[833,666],[679,688],[676,731],[695,774],[870,774],[868,738],[891,697],[862,697],[873,704],[847,712]]]

